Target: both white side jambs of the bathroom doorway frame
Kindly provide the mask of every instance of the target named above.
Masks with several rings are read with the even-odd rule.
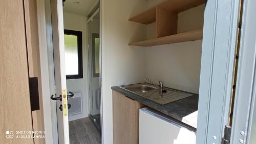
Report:
[[[58,143],[57,129],[57,112],[56,102],[50,99],[50,95],[55,93],[54,82],[54,64],[53,64],[53,47],[52,47],[52,26],[51,26],[51,0],[36,0],[37,17],[38,17],[38,35],[39,35],[39,53],[40,67],[42,78],[42,94],[44,107],[44,127],[47,133],[45,134],[46,143]],[[101,0],[99,0],[99,7]],[[101,9],[101,8],[99,8]],[[99,15],[100,12],[99,12]],[[101,18],[99,18],[101,19]],[[99,23],[101,33],[101,23]],[[99,35],[101,38],[101,34]],[[45,49],[47,47],[47,49]],[[101,41],[100,41],[100,71],[101,62]],[[102,117],[102,84],[100,73],[100,116]],[[101,118],[101,143],[103,143],[103,119]]]

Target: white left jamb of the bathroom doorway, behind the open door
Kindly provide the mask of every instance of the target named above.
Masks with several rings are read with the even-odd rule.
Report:
[[[50,1],[50,0],[49,0]],[[50,4],[50,3],[49,3]],[[47,28],[47,15],[46,12],[49,10],[47,8],[47,3],[45,0],[36,0],[37,5],[37,20],[38,20],[38,37],[39,37],[39,55],[40,55],[40,68],[41,68],[41,85],[42,85],[42,104],[44,112],[44,127],[45,127],[45,142],[46,143],[58,143],[58,133],[57,122],[55,123],[52,119],[53,115],[57,115],[56,111],[53,112],[51,108],[54,107],[50,99],[50,95],[54,93],[54,82],[50,81],[52,77],[51,70],[53,67],[50,67],[48,59],[49,49],[49,28]],[[47,49],[45,49],[47,47]],[[53,61],[53,58],[52,58]],[[54,76],[54,71],[53,71]],[[56,105],[55,105],[56,109]],[[55,118],[56,120],[56,118]]]

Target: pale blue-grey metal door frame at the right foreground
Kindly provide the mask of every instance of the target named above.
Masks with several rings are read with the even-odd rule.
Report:
[[[239,0],[205,4],[197,143],[221,143],[228,122],[239,6]]]

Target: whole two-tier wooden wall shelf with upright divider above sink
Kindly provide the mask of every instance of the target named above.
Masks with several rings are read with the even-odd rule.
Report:
[[[177,33],[178,13],[197,7],[205,0],[166,0],[153,8],[131,17],[129,20],[143,24],[156,22],[156,38],[131,42],[129,45],[154,46],[184,41],[199,40],[203,37],[203,30]]]

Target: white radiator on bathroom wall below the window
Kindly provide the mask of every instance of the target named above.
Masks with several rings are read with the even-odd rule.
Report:
[[[71,104],[69,109],[69,115],[82,113],[82,93],[73,92],[74,97],[68,99],[68,103]]]

